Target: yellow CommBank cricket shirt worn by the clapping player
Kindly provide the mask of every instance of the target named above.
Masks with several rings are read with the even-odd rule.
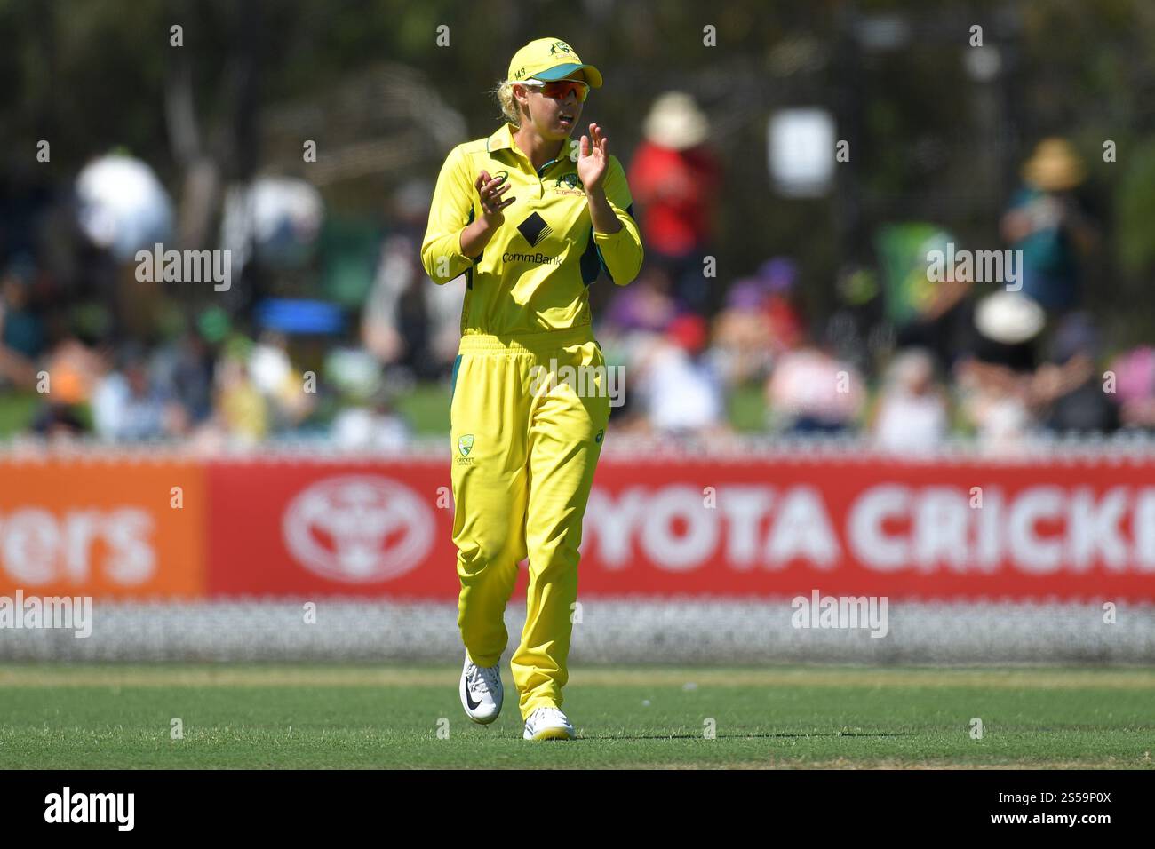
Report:
[[[604,269],[618,285],[642,265],[626,173],[610,156],[605,196],[621,222],[616,233],[595,233],[576,152],[562,142],[559,158],[535,170],[505,124],[489,139],[459,144],[441,166],[422,265],[438,283],[465,275],[461,333],[517,336],[589,326],[589,284]],[[573,149],[575,150],[575,148]],[[573,156],[573,158],[571,158]],[[508,174],[505,223],[477,256],[461,252],[461,231],[482,214],[477,174]]]

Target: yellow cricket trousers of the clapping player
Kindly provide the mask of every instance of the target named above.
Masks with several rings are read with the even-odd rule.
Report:
[[[605,387],[589,327],[467,335],[454,364],[457,625],[474,663],[495,665],[517,564],[529,558],[526,626],[511,658],[523,718],[560,707],[568,679],[582,516],[610,416]]]

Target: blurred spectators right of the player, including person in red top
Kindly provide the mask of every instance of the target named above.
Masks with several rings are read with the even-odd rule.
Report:
[[[1041,434],[1155,426],[1155,347],[1110,350],[1088,308],[1087,258],[1101,232],[1067,141],[1038,143],[998,222],[1001,244],[982,246],[1014,252],[1001,281],[961,263],[932,280],[929,258],[953,237],[907,225],[880,233],[879,253],[889,255],[879,268],[849,267],[832,282],[839,306],[828,314],[807,314],[800,269],[775,256],[724,283],[722,306],[708,315],[694,289],[716,185],[701,147],[705,122],[680,95],[655,110],[666,114],[651,114],[647,129],[661,124],[664,132],[650,134],[632,171],[647,174],[653,146],[666,148],[655,158],[671,177],[642,177],[635,189],[656,256],[614,295],[599,334],[632,381],[624,426],[725,433],[736,399],[751,393],[760,395],[767,431],[856,434],[897,453],[960,435],[1013,450]],[[671,188],[680,185],[695,189]],[[906,253],[896,259],[901,240]]]

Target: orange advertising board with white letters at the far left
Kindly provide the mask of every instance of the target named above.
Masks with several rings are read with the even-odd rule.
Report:
[[[204,482],[193,462],[0,461],[0,595],[203,595]]]

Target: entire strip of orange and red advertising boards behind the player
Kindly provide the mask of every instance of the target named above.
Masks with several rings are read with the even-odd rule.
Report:
[[[0,596],[457,594],[439,459],[3,460],[0,482]],[[814,589],[1155,602],[1155,462],[603,457],[583,598]]]

